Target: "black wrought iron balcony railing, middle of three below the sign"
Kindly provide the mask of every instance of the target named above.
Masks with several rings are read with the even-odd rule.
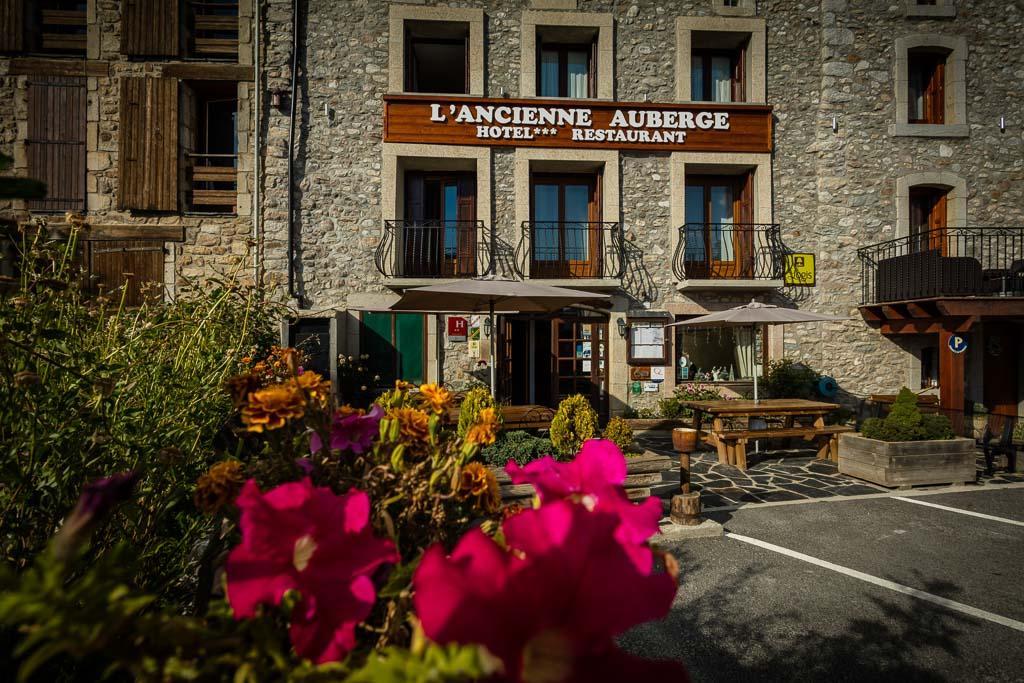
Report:
[[[621,279],[626,267],[622,225],[523,221],[516,264],[532,279]]]

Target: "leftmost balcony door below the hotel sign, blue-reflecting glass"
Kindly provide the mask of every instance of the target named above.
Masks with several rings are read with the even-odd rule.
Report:
[[[476,274],[476,179],[472,173],[406,173],[404,278]]]

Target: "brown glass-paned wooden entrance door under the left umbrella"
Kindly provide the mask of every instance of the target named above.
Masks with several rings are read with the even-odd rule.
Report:
[[[608,414],[608,324],[551,321],[552,402],[583,394],[602,418]]]

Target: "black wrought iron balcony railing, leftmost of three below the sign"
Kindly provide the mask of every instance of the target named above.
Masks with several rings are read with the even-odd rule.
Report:
[[[385,278],[475,278],[494,266],[480,220],[388,220],[374,260]]]

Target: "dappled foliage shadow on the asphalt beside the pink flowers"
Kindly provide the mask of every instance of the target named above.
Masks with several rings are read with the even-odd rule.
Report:
[[[856,596],[830,593],[811,572],[790,577],[804,586],[802,596],[769,595],[783,589],[773,575],[777,566],[769,572],[753,561],[714,579],[685,546],[675,552],[683,573],[672,612],[621,642],[634,654],[682,660],[693,681],[966,680],[944,667],[962,656],[958,638],[976,620],[896,594],[880,597],[866,585]],[[947,582],[915,585],[943,596],[956,592]]]

